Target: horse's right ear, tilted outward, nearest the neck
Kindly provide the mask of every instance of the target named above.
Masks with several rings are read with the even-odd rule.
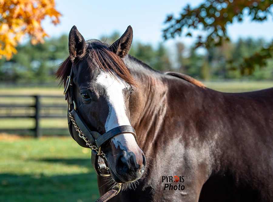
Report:
[[[124,34],[116,40],[109,48],[112,52],[116,53],[120,58],[125,57],[131,48],[133,40],[133,29],[129,25]]]

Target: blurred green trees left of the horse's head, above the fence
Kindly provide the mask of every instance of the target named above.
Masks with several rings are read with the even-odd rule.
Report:
[[[1,82],[52,82],[55,72],[69,56],[68,36],[46,39],[45,43],[18,45],[18,53],[9,61],[0,59]]]

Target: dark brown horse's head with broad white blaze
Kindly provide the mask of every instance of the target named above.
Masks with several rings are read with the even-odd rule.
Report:
[[[76,26],[70,30],[70,56],[58,69],[57,76],[65,82],[70,72],[68,100],[90,131],[104,134],[118,126],[131,126],[129,99],[132,85],[137,82],[122,58],[130,51],[132,37],[131,26],[112,45],[99,40],[85,41]],[[74,140],[89,148],[71,125]],[[101,150],[117,183],[130,183],[142,176],[146,159],[133,134],[117,134],[104,142]]]

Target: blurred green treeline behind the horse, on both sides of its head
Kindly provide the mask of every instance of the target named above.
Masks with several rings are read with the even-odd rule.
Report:
[[[101,39],[114,42],[119,36],[113,33],[111,37],[102,36]],[[200,50],[185,47],[182,43],[167,49],[162,43],[152,46],[133,42],[130,54],[154,69],[177,71],[202,80],[273,80],[273,59],[268,59],[262,69],[255,67],[251,76],[242,76],[240,70],[234,68],[234,61],[239,65],[245,57],[266,47],[267,43],[262,39],[239,39],[199,54]],[[19,45],[17,50],[10,61],[0,60],[1,82],[50,82],[55,79],[58,65],[68,56],[68,36],[62,35],[35,46],[26,43]]]

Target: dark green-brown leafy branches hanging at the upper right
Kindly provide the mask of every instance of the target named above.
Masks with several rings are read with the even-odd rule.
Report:
[[[271,0],[207,0],[198,8],[190,8],[189,5],[183,9],[178,18],[173,15],[167,16],[165,23],[168,27],[163,31],[165,39],[174,38],[181,35],[184,28],[198,29],[201,27],[208,34],[205,39],[201,35],[197,37],[195,47],[203,46],[211,49],[215,46],[221,46],[224,41],[229,41],[226,32],[226,25],[232,23],[235,18],[238,21],[243,20],[243,10],[248,9],[248,15],[254,21],[264,21],[271,14]],[[189,31],[187,36],[191,36]],[[271,58],[273,43],[268,48],[263,48],[250,57],[245,57],[239,66],[232,64],[232,68],[238,68],[241,74],[251,74],[255,66],[263,67],[266,59]]]

